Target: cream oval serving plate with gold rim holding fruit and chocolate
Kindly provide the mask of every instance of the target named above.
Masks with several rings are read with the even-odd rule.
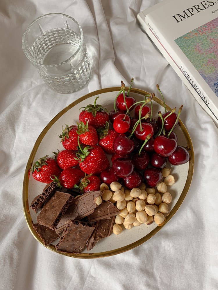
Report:
[[[106,107],[108,111],[110,111],[113,109],[113,102],[119,90],[120,87],[105,88],[89,93],[74,101],[72,104],[58,113],[58,115],[56,115],[51,120],[51,122],[49,122],[49,124],[44,128],[42,133],[37,138],[28,159],[24,175],[23,209],[29,230],[31,231],[34,238],[41,244],[42,242],[40,237],[32,226],[32,224],[36,222],[37,214],[35,214],[30,208],[30,204],[32,200],[38,194],[40,194],[40,192],[42,192],[45,184],[34,180],[32,174],[30,174],[30,177],[28,177],[28,171],[32,162],[47,154],[49,154],[50,157],[53,157],[52,151],[56,151],[57,149],[64,149],[60,143],[58,134],[61,133],[62,124],[71,126],[78,122],[79,108],[85,107],[87,104],[94,104],[94,99],[99,96],[97,99],[97,104],[102,104],[103,107]],[[128,90],[128,88],[126,88],[126,90]],[[143,100],[146,94],[148,93],[143,90],[136,88],[131,89],[131,96],[135,97],[136,101]],[[154,97],[152,103],[153,116],[157,118],[158,111],[161,110],[163,112],[163,102],[157,97]],[[166,105],[166,107],[167,110],[171,110],[169,106]],[[106,257],[133,249],[160,231],[160,229],[162,229],[162,227],[172,218],[172,216],[181,206],[190,187],[194,170],[194,151],[192,141],[187,132],[187,129],[181,120],[179,120],[179,125],[175,128],[174,131],[178,136],[178,145],[188,146],[190,148],[190,160],[186,164],[180,166],[171,166],[170,164],[167,164],[168,167],[171,167],[171,173],[174,175],[176,183],[168,188],[168,191],[172,195],[172,202],[169,204],[169,214],[167,215],[164,224],[158,226],[153,222],[151,225],[142,224],[141,226],[133,227],[131,230],[124,229],[120,235],[114,235],[112,233],[109,237],[99,241],[99,243],[97,243],[92,250],[87,252],[86,249],[84,249],[83,253],[81,254],[57,252],[53,244],[47,246],[47,248],[59,254],[74,258]]]

